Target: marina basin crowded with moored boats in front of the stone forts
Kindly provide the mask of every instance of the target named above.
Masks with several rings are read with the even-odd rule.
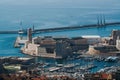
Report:
[[[22,63],[16,62],[18,65],[14,65],[16,64],[14,62],[8,62],[9,64],[4,64],[6,69],[27,70],[30,72],[31,75],[32,74],[36,74],[39,76],[46,75],[47,77],[68,76],[70,78],[76,78],[77,80],[84,78],[83,76],[87,74],[90,75],[103,72],[104,74],[110,74],[112,72],[115,73],[120,69],[119,64],[120,59],[116,62],[106,62],[104,60],[98,61],[95,57],[92,57],[93,60],[88,62],[83,57],[72,61],[61,60],[60,63],[57,60],[54,61],[52,59],[40,57],[39,58],[4,57],[0,59],[2,60],[14,59],[14,61],[15,60],[23,61]],[[30,59],[32,59],[32,62]],[[51,60],[52,62],[48,62],[47,60]],[[29,63],[29,61],[31,63]],[[106,67],[104,65],[106,65]]]

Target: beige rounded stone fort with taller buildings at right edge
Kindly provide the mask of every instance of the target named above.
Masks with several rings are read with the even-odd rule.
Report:
[[[88,53],[102,56],[120,55],[120,30],[113,30],[110,37],[102,38],[101,43],[89,45]]]

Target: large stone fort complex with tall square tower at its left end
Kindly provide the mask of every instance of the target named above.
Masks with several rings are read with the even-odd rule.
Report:
[[[21,51],[31,56],[66,58],[72,56],[79,50],[88,49],[90,44],[99,43],[100,36],[81,36],[81,37],[34,37],[32,38],[31,29],[28,30],[28,41],[25,42]]]

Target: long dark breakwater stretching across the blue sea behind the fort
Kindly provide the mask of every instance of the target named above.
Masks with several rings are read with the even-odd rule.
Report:
[[[88,25],[80,25],[80,26],[68,26],[68,27],[57,27],[57,28],[47,28],[47,29],[33,29],[33,33],[44,33],[44,32],[54,32],[54,31],[62,31],[62,30],[72,30],[72,29],[80,29],[80,28],[101,28],[105,26],[116,26],[120,25],[120,22],[110,22],[110,23],[101,23],[101,24],[88,24]],[[27,33],[27,30],[23,30],[22,33]],[[20,31],[0,31],[0,34],[18,34]]]

